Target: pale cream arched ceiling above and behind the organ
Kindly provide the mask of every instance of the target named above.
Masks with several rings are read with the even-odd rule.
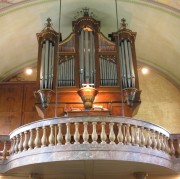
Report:
[[[114,0],[0,0],[0,81],[22,68],[36,64],[36,33],[52,19],[65,39],[72,21],[88,7],[101,21],[101,31],[117,31]],[[118,19],[137,32],[137,60],[149,65],[180,86],[180,2],[164,0],[117,0]],[[59,25],[60,22],[60,25]],[[118,23],[118,24],[119,24]]]

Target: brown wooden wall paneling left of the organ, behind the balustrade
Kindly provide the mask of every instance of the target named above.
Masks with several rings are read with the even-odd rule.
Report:
[[[35,90],[35,82],[0,84],[0,135],[39,118],[34,107]]]

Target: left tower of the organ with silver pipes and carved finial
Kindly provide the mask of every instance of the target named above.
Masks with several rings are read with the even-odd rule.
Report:
[[[56,86],[56,65],[59,34],[51,27],[51,19],[47,19],[46,28],[37,34],[38,77],[40,89],[54,89]]]

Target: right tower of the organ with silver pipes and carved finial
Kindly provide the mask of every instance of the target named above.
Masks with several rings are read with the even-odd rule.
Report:
[[[127,29],[125,19],[121,20],[121,27],[118,32],[112,33],[111,39],[118,44],[120,60],[120,78],[122,89],[139,88],[137,75],[137,62],[135,54],[136,33]]]

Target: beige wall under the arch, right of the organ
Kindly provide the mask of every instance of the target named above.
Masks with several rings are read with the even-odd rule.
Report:
[[[139,71],[142,104],[135,118],[160,125],[170,133],[180,133],[180,91],[163,76]]]

